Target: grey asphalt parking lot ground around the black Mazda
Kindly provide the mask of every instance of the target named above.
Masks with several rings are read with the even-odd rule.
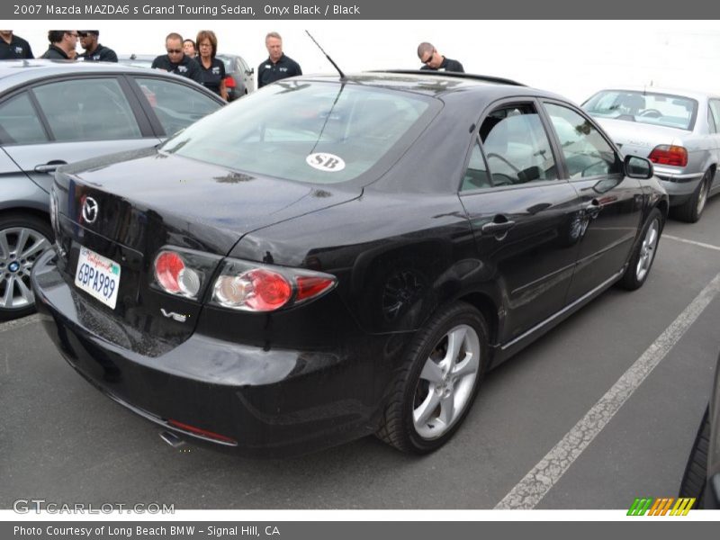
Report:
[[[720,349],[718,231],[720,197],[697,224],[670,220],[642,289],[611,289],[492,372],[455,439],[422,458],[373,437],[286,460],[174,449],[78,376],[37,316],[0,323],[0,508],[34,498],[627,509],[635,497],[674,497]]]

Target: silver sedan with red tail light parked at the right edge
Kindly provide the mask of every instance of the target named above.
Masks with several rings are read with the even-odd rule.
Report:
[[[673,215],[700,219],[720,193],[720,95],[656,87],[601,90],[583,103],[626,155],[649,158]]]

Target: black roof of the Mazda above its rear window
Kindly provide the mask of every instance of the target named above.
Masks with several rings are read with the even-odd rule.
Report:
[[[536,88],[531,88],[505,78],[430,70],[412,71],[398,69],[392,71],[366,71],[347,75],[344,79],[340,79],[338,75],[314,75],[295,77],[293,80],[298,79],[320,82],[345,82],[346,84],[403,90],[435,97],[472,90],[482,91],[482,94],[522,94],[542,97],[560,97],[556,94],[537,90]]]

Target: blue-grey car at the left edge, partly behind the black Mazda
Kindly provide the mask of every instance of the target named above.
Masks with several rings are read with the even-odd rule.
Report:
[[[223,103],[157,70],[0,62],[0,320],[34,310],[30,269],[52,241],[48,193],[58,166],[155,146]]]

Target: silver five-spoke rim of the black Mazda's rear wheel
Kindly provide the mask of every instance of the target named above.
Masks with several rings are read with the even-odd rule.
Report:
[[[442,437],[463,415],[479,367],[480,339],[473,327],[456,326],[437,342],[423,365],[413,400],[412,421],[420,437]]]

